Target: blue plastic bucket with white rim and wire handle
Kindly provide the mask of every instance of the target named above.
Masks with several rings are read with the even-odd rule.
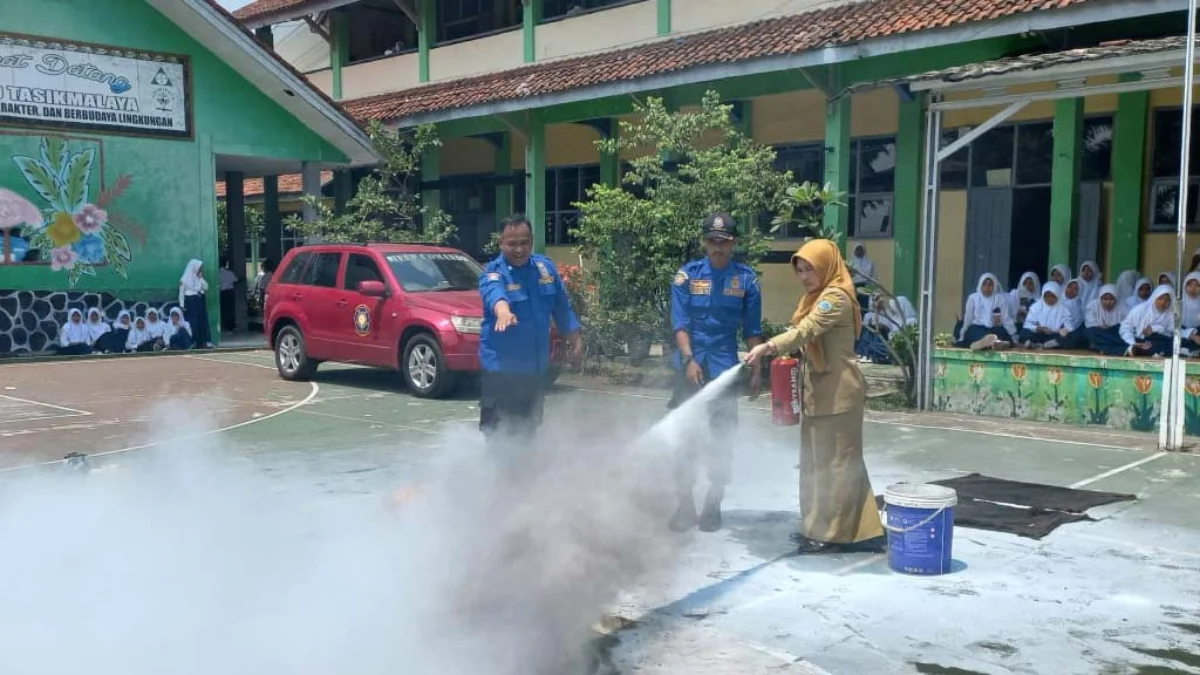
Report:
[[[904,574],[946,574],[959,494],[941,485],[898,483],[883,491],[888,566]]]

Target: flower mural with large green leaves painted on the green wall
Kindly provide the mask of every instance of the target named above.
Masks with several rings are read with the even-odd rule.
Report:
[[[71,286],[84,275],[94,276],[102,264],[126,277],[132,255],[128,239],[115,226],[131,223],[113,213],[112,205],[132,179],[121,175],[104,189],[103,177],[95,168],[96,148],[74,151],[62,137],[41,138],[38,150],[36,157],[13,156],[12,161],[42,203],[34,204],[0,189],[0,223],[23,219],[30,247],[48,252],[50,269],[65,271]],[[95,195],[94,178],[100,185]],[[12,227],[16,225],[7,226]]]

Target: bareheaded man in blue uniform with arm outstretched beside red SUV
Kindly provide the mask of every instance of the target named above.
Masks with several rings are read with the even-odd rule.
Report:
[[[484,298],[479,428],[490,441],[497,434],[529,437],[541,424],[551,319],[576,356],[583,340],[558,269],[533,252],[527,217],[515,215],[500,225],[500,255],[480,274],[479,293]]]

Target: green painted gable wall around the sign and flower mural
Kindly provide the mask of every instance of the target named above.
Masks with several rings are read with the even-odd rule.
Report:
[[[80,275],[72,286],[66,271],[49,264],[0,265],[0,288],[73,288],[120,298],[173,298],[187,261],[198,257],[205,262],[209,285],[215,289],[215,155],[346,161],[332,145],[143,0],[0,0],[0,16],[5,17],[5,31],[187,54],[194,130],[193,139],[173,141],[0,125],[0,187],[17,192],[40,209],[48,208],[46,201],[12,157],[37,157],[43,137],[68,137],[72,154],[95,150],[88,202],[98,201],[102,189],[113,189],[120,177],[128,177],[127,187],[106,205],[106,227],[124,234],[130,249],[125,275],[119,273],[119,264],[101,264],[94,275]],[[66,229],[59,233],[60,243],[74,237]],[[43,255],[43,259],[47,257]],[[209,300],[216,322],[217,293],[210,293]]]

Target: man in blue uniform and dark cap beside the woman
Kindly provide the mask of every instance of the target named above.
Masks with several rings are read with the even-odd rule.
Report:
[[[677,407],[706,382],[738,364],[738,331],[746,347],[762,342],[762,294],[750,265],[733,259],[737,225],[728,214],[704,221],[706,257],[692,261],[676,274],[671,288],[671,323],[676,336],[678,377],[670,407]],[[758,392],[758,370],[751,372],[751,396]],[[700,525],[703,532],[721,528],[721,500],[733,464],[733,431],[738,423],[738,388],[712,402],[710,434],[698,447],[684,449],[676,474],[679,507],[670,526],[677,532]],[[696,464],[708,465],[708,495],[696,515],[692,489]]]

